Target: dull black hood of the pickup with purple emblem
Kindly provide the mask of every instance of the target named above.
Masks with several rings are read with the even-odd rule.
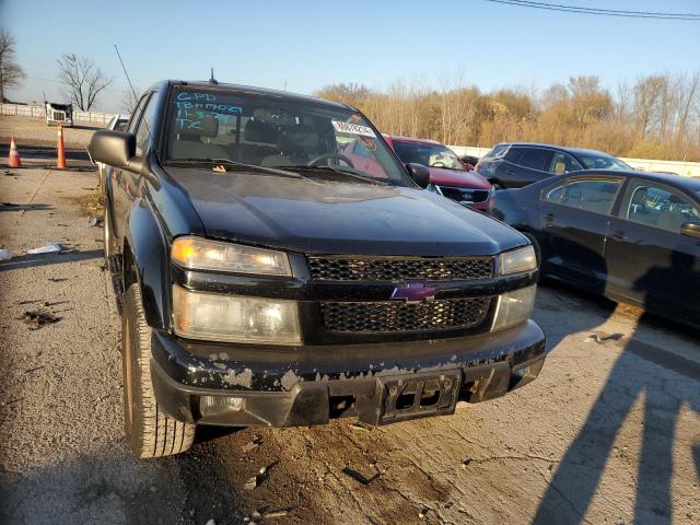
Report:
[[[168,167],[207,235],[306,254],[494,255],[526,244],[510,226],[431,191]]]

